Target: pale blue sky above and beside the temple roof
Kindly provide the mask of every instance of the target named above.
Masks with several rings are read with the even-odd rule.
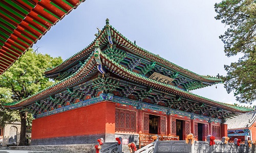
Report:
[[[87,0],[54,25],[33,48],[66,60],[88,46],[98,32],[96,28],[102,29],[109,18],[115,29],[149,52],[201,75],[225,75],[224,64],[238,58],[227,58],[223,52],[219,36],[226,28],[214,18],[214,4],[218,2]],[[238,103],[222,84],[191,92],[224,103]]]

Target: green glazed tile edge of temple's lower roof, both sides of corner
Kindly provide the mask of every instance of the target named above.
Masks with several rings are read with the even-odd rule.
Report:
[[[52,86],[50,86],[50,87],[48,87],[48,88],[46,88],[44,90],[41,90],[41,91],[39,91],[39,92],[37,92],[37,93],[35,93],[35,94],[33,94],[33,95],[23,99],[23,100],[15,101],[14,103],[6,104],[5,107],[22,107],[22,106],[25,106],[27,104],[32,103],[33,101],[36,101],[36,98],[39,97],[38,95],[42,94],[44,92],[45,92],[44,93],[45,95],[43,97],[46,97],[47,95],[50,95],[52,92],[55,92],[56,90],[59,90],[58,88],[56,88],[57,86],[62,85],[62,84],[68,84],[68,82],[71,82],[71,80],[75,80],[74,77],[76,75],[80,75],[80,78],[83,78],[83,79],[86,78],[87,75],[84,75],[84,74],[81,74],[81,73],[83,73],[84,68],[86,68],[86,65],[89,63],[89,61],[91,61],[92,58],[94,58],[93,54],[94,53],[92,53],[90,55],[90,57],[86,60],[86,62],[84,62],[84,64],[82,64],[82,66],[74,74],[72,74],[70,77],[68,77],[66,79],[63,79],[63,80],[61,80],[59,82],[56,82]],[[190,93],[190,92],[181,90],[181,89],[179,89],[179,88],[177,88],[175,86],[172,86],[172,85],[167,85],[167,84],[163,84],[163,83],[157,82],[157,81],[152,80],[152,79],[148,79],[148,78],[144,77],[141,74],[138,74],[136,72],[130,71],[129,69],[123,67],[119,63],[117,63],[114,60],[108,58],[103,53],[101,53],[101,58],[102,58],[102,60],[104,59],[105,61],[110,61],[111,63],[113,63],[112,65],[115,65],[118,69],[120,69],[119,72],[121,72],[121,77],[123,77],[123,78],[129,79],[129,77],[130,77],[130,78],[133,78],[131,80],[136,80],[136,81],[138,81],[138,79],[139,79],[139,81],[143,81],[144,83],[146,82],[149,85],[154,85],[157,88],[161,88],[161,89],[164,89],[164,90],[167,90],[167,91],[173,91],[176,94],[181,94],[184,97],[187,97],[187,98],[190,98],[190,99],[194,99],[194,100],[197,100],[197,101],[200,101],[200,102],[203,102],[203,103],[208,103],[211,106],[222,107],[222,108],[224,108],[226,110],[229,110],[229,111],[230,110],[231,111],[237,111],[237,112],[253,111],[253,108],[246,108],[246,107],[240,107],[240,106],[236,106],[236,105],[230,105],[230,104],[221,103],[219,101],[215,101],[215,100],[212,100],[212,99],[209,99],[209,98],[206,98],[206,97],[194,94],[194,93]],[[90,70],[88,70],[88,71],[90,71]],[[34,98],[34,100],[33,100],[33,98]],[[25,101],[27,101],[27,102],[25,103]]]

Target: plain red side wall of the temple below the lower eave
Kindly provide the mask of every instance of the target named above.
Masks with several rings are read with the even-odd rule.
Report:
[[[34,119],[32,139],[115,134],[115,103],[104,101]]]

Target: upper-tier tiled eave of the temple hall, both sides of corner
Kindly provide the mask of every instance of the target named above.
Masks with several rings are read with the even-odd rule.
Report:
[[[111,31],[111,37],[112,41],[114,44],[117,44],[118,46],[126,49],[127,52],[130,52],[132,54],[135,54],[141,58],[149,59],[152,61],[155,61],[159,63],[159,65],[162,65],[170,70],[176,71],[184,75],[185,77],[197,80],[197,81],[202,81],[202,82],[208,82],[208,83],[222,83],[221,79],[214,78],[214,77],[209,77],[209,76],[204,76],[204,75],[199,75],[195,72],[192,72],[188,69],[185,69],[179,65],[176,65],[172,62],[167,61],[164,58],[159,57],[158,55],[155,55],[151,52],[148,52],[147,50],[139,47],[138,45],[134,44],[131,42],[129,39],[124,37],[121,33],[119,33],[115,28],[113,28],[111,25],[107,24],[105,27],[102,29],[102,31],[99,33],[99,36],[96,38],[99,40],[100,47],[103,48],[102,44],[105,44],[106,41],[106,29],[109,28]],[[95,45],[96,39],[88,45],[86,48],[82,49],[80,52],[77,54],[73,55],[69,59],[63,61],[61,64],[58,66],[48,69],[45,73],[46,75],[49,75],[51,73],[56,73],[62,70],[65,70],[69,68],[70,65],[74,65],[77,63],[82,57],[86,56],[87,54],[90,54],[94,48],[92,48]],[[106,45],[106,44],[105,44]]]

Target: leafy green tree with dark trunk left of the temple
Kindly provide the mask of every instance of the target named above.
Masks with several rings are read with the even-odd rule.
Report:
[[[13,101],[23,100],[52,85],[53,81],[46,78],[44,72],[47,68],[57,66],[61,62],[62,59],[60,57],[52,58],[49,55],[35,53],[30,48],[7,71],[0,75],[0,87],[11,91]],[[26,145],[26,121],[28,114],[21,108],[18,111],[21,122],[19,145]]]

